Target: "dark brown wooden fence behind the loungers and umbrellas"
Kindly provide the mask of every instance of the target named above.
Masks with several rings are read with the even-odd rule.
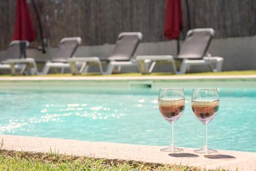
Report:
[[[40,13],[44,37],[50,46],[62,37],[80,36],[83,45],[114,43],[120,32],[140,31],[143,41],[164,41],[165,0],[34,0]],[[29,4],[37,39],[38,24]],[[188,0],[191,28],[211,27],[216,37],[252,36],[256,33],[255,0]],[[182,0],[184,33],[187,11]],[[12,39],[16,0],[0,2],[0,49]]]

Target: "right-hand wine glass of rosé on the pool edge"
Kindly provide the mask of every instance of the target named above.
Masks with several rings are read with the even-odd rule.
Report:
[[[207,123],[209,123],[219,110],[219,94],[217,89],[194,89],[191,106],[196,117],[204,124],[204,147],[194,152],[200,154],[218,153],[217,150],[207,146]]]

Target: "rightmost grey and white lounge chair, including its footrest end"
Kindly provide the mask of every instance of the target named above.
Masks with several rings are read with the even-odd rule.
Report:
[[[198,65],[207,65],[213,72],[221,71],[223,63],[222,57],[205,56],[214,33],[214,29],[211,28],[189,30],[177,57],[172,55],[137,56],[136,59],[140,64],[141,72],[151,73],[158,63],[172,64],[176,74],[184,74],[189,70],[190,66]],[[182,60],[179,72],[176,69],[175,59]],[[153,63],[148,69],[146,63],[150,60],[153,61]],[[215,68],[212,65],[215,65]]]

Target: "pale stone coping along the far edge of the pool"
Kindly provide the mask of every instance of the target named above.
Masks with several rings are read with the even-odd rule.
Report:
[[[18,76],[0,77],[0,81],[33,81],[33,80],[190,80],[190,79],[250,79],[256,75],[204,75],[204,76],[71,76],[71,77],[50,77],[50,76]]]

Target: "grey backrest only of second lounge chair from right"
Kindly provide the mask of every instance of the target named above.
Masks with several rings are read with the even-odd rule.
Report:
[[[120,33],[115,48],[108,60],[130,60],[141,40],[142,34],[140,32]]]

